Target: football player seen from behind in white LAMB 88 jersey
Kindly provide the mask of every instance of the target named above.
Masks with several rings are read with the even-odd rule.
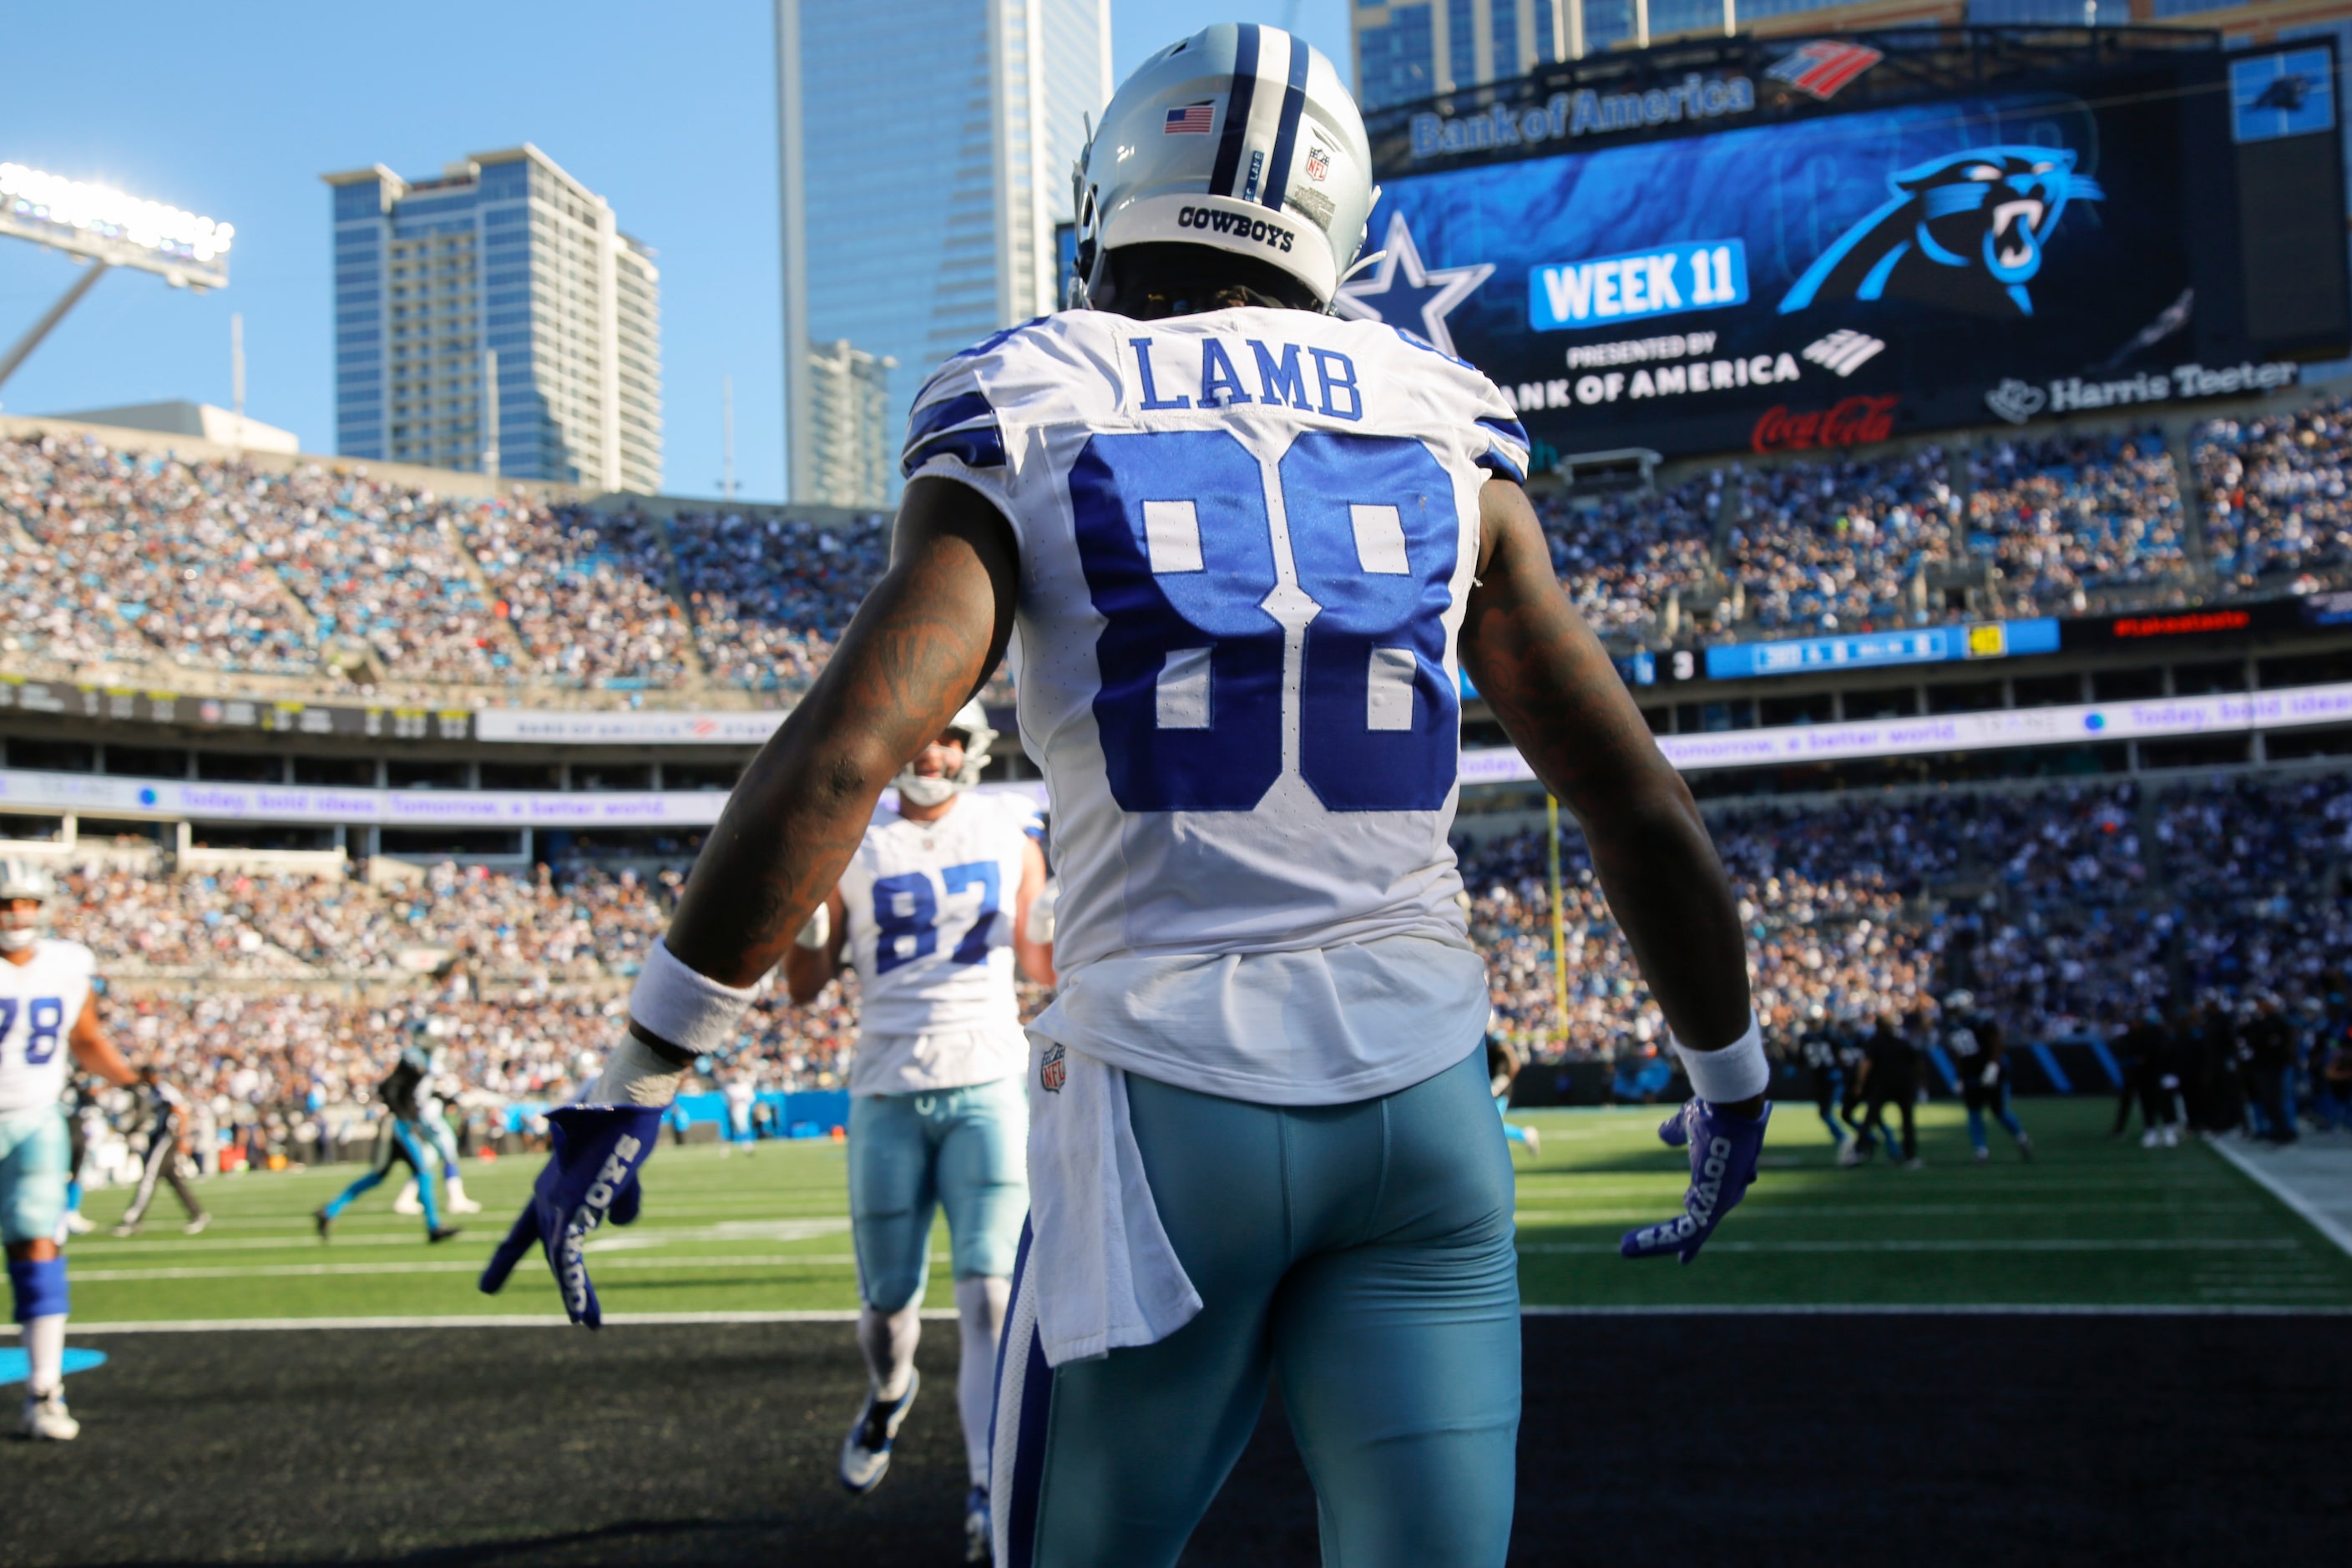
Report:
[[[1145,61],[1080,165],[1084,308],[915,400],[891,569],[767,743],[485,1274],[630,1218],[691,1053],[1011,644],[1054,802],[1061,990],[1000,1356],[1000,1563],[1174,1563],[1265,1394],[1324,1561],[1498,1566],[1519,1425],[1512,1173],[1446,832],[1470,675],[1592,844],[1693,1098],[1689,1260],[1755,1180],[1764,1046],[1691,792],[1552,574],[1477,369],[1329,315],[1371,212],[1334,66],[1263,26]],[[562,1114],[562,1112],[560,1112]],[[1677,1462],[1729,1465],[1693,1408]]]

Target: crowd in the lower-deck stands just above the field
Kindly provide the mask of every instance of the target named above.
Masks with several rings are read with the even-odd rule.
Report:
[[[2274,997],[2319,1093],[2352,1025],[2352,776],[1740,806],[1717,811],[1712,832],[1748,924],[1757,1013],[1783,1051],[1809,1020],[1860,1030],[1896,1011],[1933,1030],[1955,987],[2013,1041],[2126,1053],[2152,1013],[2183,1039],[2237,1041]],[[1665,1023],[1573,827],[1562,867],[1564,1016],[1541,832],[1463,849],[1496,1027],[1548,1063],[1656,1060]],[[96,950],[108,1020],[134,1051],[202,1091],[216,1126],[263,1128],[282,1150],[303,1126],[315,1138],[365,1114],[409,1016],[430,1020],[477,1133],[503,1128],[508,1107],[560,1103],[609,1044],[677,886],[677,870],[442,865],[400,886],[85,870],[54,919]],[[833,1088],[854,1039],[854,978],[807,1009],[779,990],[710,1074]]]

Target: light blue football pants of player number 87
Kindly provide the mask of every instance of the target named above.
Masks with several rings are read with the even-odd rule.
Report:
[[[1028,1213],[1021,1077],[849,1100],[849,1229],[858,1295],[875,1312],[922,1300],[938,1208],[957,1279],[1014,1272]]]

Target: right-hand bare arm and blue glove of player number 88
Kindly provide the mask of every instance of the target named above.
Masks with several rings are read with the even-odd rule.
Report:
[[[1738,903],[1698,802],[1559,590],[1543,527],[1510,480],[1479,491],[1461,656],[1503,733],[1583,825],[1609,912],[1682,1046],[1696,1098],[1658,1135],[1691,1147],[1691,1190],[1682,1215],[1628,1232],[1623,1253],[1689,1262],[1755,1180],[1769,1114]]]

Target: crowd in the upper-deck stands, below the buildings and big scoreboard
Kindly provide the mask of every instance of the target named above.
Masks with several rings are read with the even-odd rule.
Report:
[[[2347,409],[2192,433],[2223,588],[2352,571]],[[1621,642],[1719,642],[2173,602],[2185,482],[2157,430],[1726,468],[1545,498],[1552,559]],[[0,440],[0,661],[167,661],[383,689],[790,693],[889,557],[880,517],[452,501],[365,468]],[[1945,588],[1983,588],[1969,599]],[[501,698],[510,701],[510,698]]]

